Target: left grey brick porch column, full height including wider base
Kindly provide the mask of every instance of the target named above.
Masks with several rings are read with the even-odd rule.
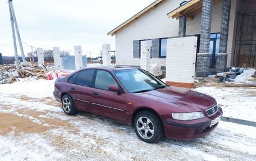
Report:
[[[210,67],[210,37],[213,0],[203,0],[199,53],[196,59],[196,76],[207,77]]]

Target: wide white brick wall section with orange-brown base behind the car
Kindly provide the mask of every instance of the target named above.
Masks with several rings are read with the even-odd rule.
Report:
[[[196,36],[167,39],[167,84],[194,84],[196,43]]]

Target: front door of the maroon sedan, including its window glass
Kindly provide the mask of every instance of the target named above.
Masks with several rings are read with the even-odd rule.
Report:
[[[118,85],[111,73],[104,70],[96,72],[92,89],[92,105],[95,112],[100,116],[126,122],[126,94],[108,90],[110,85]]]

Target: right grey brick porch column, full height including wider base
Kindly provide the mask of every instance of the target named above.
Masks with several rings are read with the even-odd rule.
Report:
[[[227,66],[227,38],[230,19],[231,0],[223,0],[221,15],[220,49],[217,54],[216,72],[224,72]]]

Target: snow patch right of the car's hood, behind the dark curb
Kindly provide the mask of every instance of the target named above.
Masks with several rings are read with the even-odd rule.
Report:
[[[256,122],[256,88],[202,86],[194,90],[213,96],[223,116]]]

